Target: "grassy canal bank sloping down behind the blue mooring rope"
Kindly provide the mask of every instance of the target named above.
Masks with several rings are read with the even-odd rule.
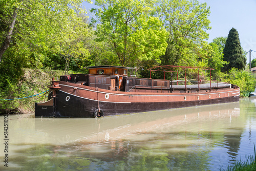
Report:
[[[18,85],[13,86],[13,88],[9,90],[11,96],[5,97],[5,99],[15,100],[1,100],[0,114],[34,113],[34,103],[44,101],[46,97],[44,93],[38,96],[33,95],[45,92],[47,90],[47,86],[51,84],[52,77],[55,77],[55,79],[59,79],[60,75],[64,75],[64,71],[24,69],[23,79],[18,83]]]

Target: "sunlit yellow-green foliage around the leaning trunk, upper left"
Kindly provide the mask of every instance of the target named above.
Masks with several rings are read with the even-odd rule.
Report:
[[[65,59],[66,70],[70,62],[89,60],[87,17],[79,5],[80,0],[1,1],[0,46],[3,49],[2,45],[7,44],[9,29],[6,28],[16,20],[10,47],[15,45],[29,56],[30,68],[44,68],[42,63],[49,52],[61,54],[59,57]]]

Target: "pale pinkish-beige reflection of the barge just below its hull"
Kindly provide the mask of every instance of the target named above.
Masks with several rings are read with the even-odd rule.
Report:
[[[110,116],[98,118],[97,120],[89,118],[36,118],[35,127],[37,131],[50,133],[51,138],[56,139],[56,141],[60,137],[62,137],[61,139],[63,137],[69,137],[68,139],[63,139],[63,143],[72,143],[74,140],[81,142],[104,142],[120,139],[133,140],[134,136],[141,133],[158,133],[159,131],[164,133],[169,132],[169,129],[173,129],[174,127],[177,129],[175,131],[190,132],[190,127],[187,127],[187,125],[198,124],[200,121],[202,121],[200,125],[203,126],[200,130],[214,131],[214,129],[218,129],[219,118],[231,119],[232,117],[239,116],[239,112],[239,102],[234,102],[199,106],[197,108],[154,111],[126,116]],[[204,120],[207,122],[204,122]],[[63,130],[61,132],[52,131],[56,130],[56,125],[65,125],[65,128],[61,127],[61,130]],[[77,132],[80,133],[78,137],[75,134]]]

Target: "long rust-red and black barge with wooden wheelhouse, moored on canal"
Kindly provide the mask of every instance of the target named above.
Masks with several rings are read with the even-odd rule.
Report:
[[[152,71],[173,75],[161,66]],[[52,80],[48,101],[35,103],[36,117],[103,117],[167,110],[239,101],[240,88],[228,83],[202,83],[198,67],[178,67],[198,70],[198,84],[183,85],[177,80],[137,78],[127,75],[131,68],[118,66],[88,67],[89,74],[70,74]],[[136,70],[137,71],[137,70]],[[176,71],[175,71],[176,72]],[[178,77],[178,72],[177,72]]]

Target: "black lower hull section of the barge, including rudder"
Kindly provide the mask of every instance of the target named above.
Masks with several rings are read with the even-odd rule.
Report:
[[[67,99],[68,96],[69,98]],[[239,101],[239,96],[179,102],[98,102],[97,100],[81,98],[63,91],[57,91],[55,117],[93,118],[95,117],[95,113],[97,113],[98,106],[100,108],[101,115],[112,116],[237,101]],[[36,104],[35,116],[53,117],[52,106],[40,106]]]

